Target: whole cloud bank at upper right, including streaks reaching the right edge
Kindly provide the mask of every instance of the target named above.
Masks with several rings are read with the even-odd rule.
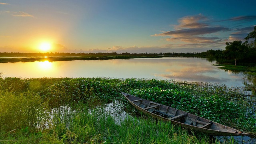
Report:
[[[213,22],[249,22],[254,20],[256,20],[256,16],[254,15],[237,16],[220,21],[209,20],[208,17],[202,14],[185,16],[178,19],[178,25],[171,25],[174,30],[154,34],[152,36],[167,36],[169,38],[165,38],[165,40],[176,43],[172,44],[172,47],[176,48],[223,48],[225,42],[229,40],[243,40],[246,35],[254,29],[254,26],[231,29],[214,25]],[[167,44],[166,46],[168,47],[169,45]]]

